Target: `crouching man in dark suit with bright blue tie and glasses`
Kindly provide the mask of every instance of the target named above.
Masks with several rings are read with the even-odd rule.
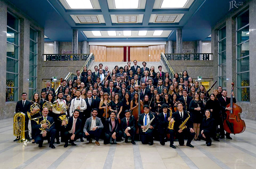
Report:
[[[140,114],[138,126],[141,129],[140,130],[140,140],[142,144],[149,144],[150,146],[154,144],[153,141],[153,131],[156,127],[156,121],[157,117],[156,115],[153,115],[149,112],[149,106],[144,105],[143,106],[144,113]],[[154,118],[154,119],[153,119]],[[150,121],[153,119],[153,121],[150,124]],[[143,132],[143,129],[146,128],[146,125],[150,125],[149,129],[146,132]]]

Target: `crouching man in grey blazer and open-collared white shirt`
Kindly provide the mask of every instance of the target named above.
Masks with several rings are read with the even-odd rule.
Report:
[[[99,137],[101,134],[101,131],[103,129],[103,124],[101,122],[101,119],[96,117],[98,114],[97,109],[92,109],[92,117],[86,119],[84,128],[83,128],[83,137],[89,139],[89,144],[92,144],[93,138],[95,138],[95,145],[99,146]]]

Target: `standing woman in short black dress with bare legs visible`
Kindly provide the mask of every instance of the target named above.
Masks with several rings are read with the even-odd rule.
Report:
[[[198,135],[200,132],[200,124],[202,123],[203,112],[204,112],[204,104],[199,97],[200,97],[199,92],[195,92],[195,97],[190,102],[190,105],[189,105],[189,111],[190,111],[191,119],[193,122],[193,129],[196,133],[194,137],[195,141],[198,140]]]

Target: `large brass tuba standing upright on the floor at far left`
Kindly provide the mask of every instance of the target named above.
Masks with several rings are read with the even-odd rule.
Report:
[[[13,135],[19,139],[17,143],[29,142],[29,139],[25,138],[25,119],[26,115],[23,112],[18,112],[14,114],[13,117]]]

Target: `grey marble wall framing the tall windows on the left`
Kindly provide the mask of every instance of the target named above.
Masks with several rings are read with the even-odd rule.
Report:
[[[19,8],[6,0],[0,0],[0,85],[6,85],[6,27],[7,11],[15,15],[20,20],[20,44],[19,44],[19,80],[18,80],[18,100],[21,100],[21,93],[28,94],[29,82],[29,28],[33,27],[38,31],[38,75],[37,86],[41,91],[41,64],[44,53],[44,29],[35,21],[25,15]],[[13,117],[16,102],[5,102],[5,87],[0,88],[0,119]]]

